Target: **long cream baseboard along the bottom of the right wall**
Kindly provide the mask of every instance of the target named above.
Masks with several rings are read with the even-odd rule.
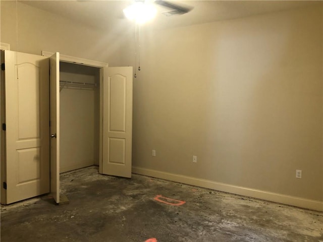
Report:
[[[199,179],[191,176],[179,175],[179,174],[168,173],[168,172],[163,172],[158,170],[146,169],[138,166],[132,166],[132,172],[136,174],[148,175],[148,176],[153,176],[161,179],[172,180],[178,183],[193,185],[201,188],[207,188],[207,189],[217,190],[221,192],[232,193],[232,194],[252,197],[252,198],[276,202],[276,203],[282,203],[282,204],[291,205],[291,206],[300,207],[300,208],[323,211],[322,201],[316,201],[316,200],[288,196],[288,195],[279,194],[279,193],[272,193],[272,192],[266,192],[266,191],[261,191],[256,189],[238,187],[238,186],[233,186],[233,185],[224,184],[224,183],[217,183],[216,181]]]

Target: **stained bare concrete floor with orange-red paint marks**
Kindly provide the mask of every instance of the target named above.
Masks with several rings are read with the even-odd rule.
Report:
[[[91,166],[62,174],[61,190],[69,204],[47,195],[2,206],[1,241],[323,242],[323,213],[142,175]]]

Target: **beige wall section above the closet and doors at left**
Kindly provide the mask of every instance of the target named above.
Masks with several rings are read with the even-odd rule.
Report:
[[[105,33],[21,2],[17,2],[17,11],[16,1],[0,1],[0,8],[0,40],[9,43],[11,50],[32,54],[41,54],[42,50],[58,51],[65,55],[109,63],[110,66],[120,66],[116,54],[122,41],[120,32],[120,39],[116,41],[114,31]]]

